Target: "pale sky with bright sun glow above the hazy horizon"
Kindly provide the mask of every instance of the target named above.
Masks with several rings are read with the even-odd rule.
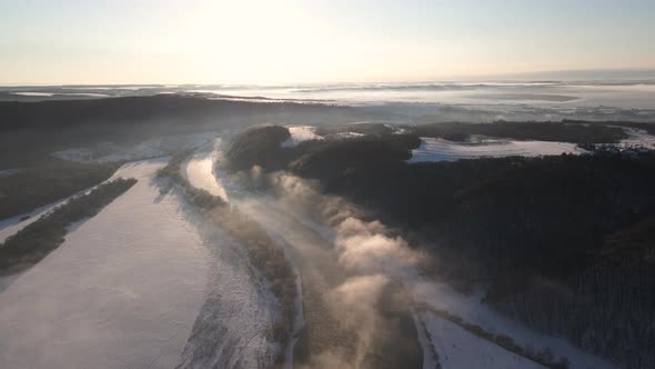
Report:
[[[655,70],[655,0],[0,0],[0,84]]]

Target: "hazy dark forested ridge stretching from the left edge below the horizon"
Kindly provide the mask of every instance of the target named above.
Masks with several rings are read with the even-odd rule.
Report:
[[[262,121],[346,121],[383,114],[352,107],[159,94],[92,100],[0,101],[0,168],[38,163],[58,150],[102,142],[242,128]]]

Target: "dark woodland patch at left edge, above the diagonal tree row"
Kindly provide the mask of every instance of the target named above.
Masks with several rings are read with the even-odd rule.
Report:
[[[118,163],[79,164],[50,160],[0,178],[0,219],[16,217],[107,180]]]

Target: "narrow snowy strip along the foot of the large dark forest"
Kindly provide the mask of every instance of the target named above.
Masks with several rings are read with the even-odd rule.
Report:
[[[464,295],[447,285],[423,281],[413,285],[412,295],[417,302],[445,310],[486,331],[511,337],[523,348],[532,347],[537,351],[548,348],[555,358],[566,357],[571,361],[571,368],[614,368],[609,362],[574,347],[565,338],[542,335],[491,310],[482,303],[481,291]],[[441,357],[439,348],[437,352]]]

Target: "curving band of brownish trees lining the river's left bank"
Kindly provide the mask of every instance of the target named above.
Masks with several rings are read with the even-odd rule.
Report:
[[[187,150],[173,156],[168,164],[158,171],[158,178],[170,180],[160,192],[167,193],[173,184],[180,188],[185,199],[204,219],[224,230],[245,249],[252,266],[270,283],[271,291],[282,307],[282,317],[274,323],[271,331],[271,338],[282,343],[283,349],[276,358],[276,363],[281,363],[284,359],[284,348],[290,345],[293,331],[298,292],[295,272],[284,255],[283,246],[273,241],[256,221],[225,202],[220,196],[213,196],[206,190],[193,187],[182,176],[181,166],[192,152],[193,150]]]

